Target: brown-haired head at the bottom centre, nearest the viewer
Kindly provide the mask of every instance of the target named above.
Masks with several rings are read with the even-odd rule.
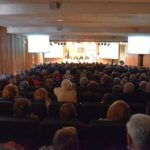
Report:
[[[78,150],[78,136],[74,127],[63,127],[53,137],[54,150]]]

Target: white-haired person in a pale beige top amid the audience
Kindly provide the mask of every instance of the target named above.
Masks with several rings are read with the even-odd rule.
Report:
[[[77,102],[76,90],[74,89],[72,82],[68,79],[62,81],[61,87],[54,88],[54,94],[56,95],[58,102]]]

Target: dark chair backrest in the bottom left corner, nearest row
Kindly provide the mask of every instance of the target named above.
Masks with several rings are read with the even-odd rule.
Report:
[[[39,122],[27,118],[0,117],[0,141],[14,140],[22,145],[37,145]]]

